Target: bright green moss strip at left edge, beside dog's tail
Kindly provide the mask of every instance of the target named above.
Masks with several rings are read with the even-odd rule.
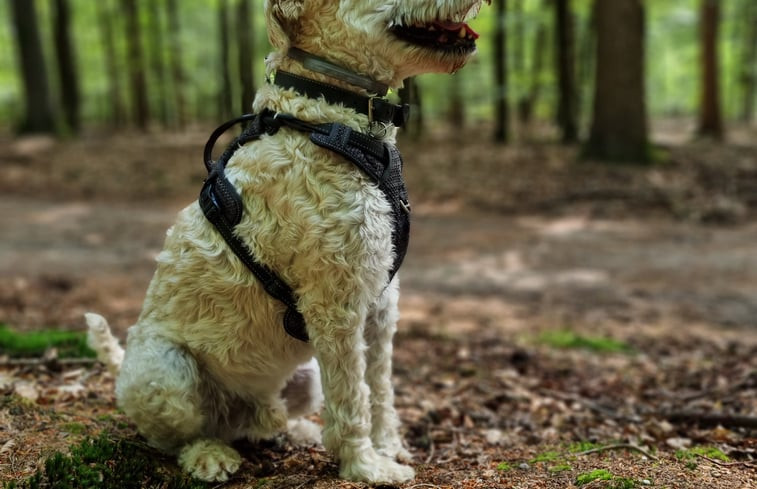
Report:
[[[72,331],[16,332],[0,324],[0,352],[11,357],[38,357],[50,347],[58,349],[62,358],[95,357],[87,346],[85,333]]]

